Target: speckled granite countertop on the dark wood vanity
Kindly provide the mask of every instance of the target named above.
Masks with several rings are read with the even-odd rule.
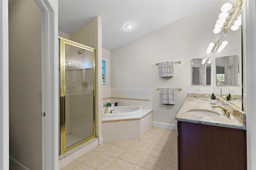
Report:
[[[217,100],[217,104],[221,106],[221,102]],[[208,97],[204,97],[201,95],[200,97],[188,97],[186,101],[183,103],[180,111],[176,115],[176,121],[184,121],[184,122],[191,122],[191,123],[200,123],[204,125],[212,125],[212,126],[219,126],[219,127],[228,127],[228,128],[237,128],[237,129],[246,129],[246,124],[238,121],[236,117],[234,117],[233,111],[231,111],[230,117],[226,117],[222,109],[220,108],[212,108],[212,104],[209,102]],[[225,108],[227,108],[225,106]],[[196,109],[196,110],[210,110],[212,112],[220,113],[218,117],[200,117],[197,115],[192,115],[187,111],[189,109]]]

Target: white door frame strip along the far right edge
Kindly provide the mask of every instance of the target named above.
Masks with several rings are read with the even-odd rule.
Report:
[[[247,138],[247,169],[256,169],[256,2],[255,0],[245,0],[243,4],[245,9],[243,22],[243,29],[245,25],[245,31],[243,32],[243,43],[245,45],[243,49],[246,51],[246,83],[243,85],[246,87],[246,138]]]

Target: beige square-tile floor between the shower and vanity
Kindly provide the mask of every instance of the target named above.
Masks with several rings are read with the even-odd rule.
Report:
[[[152,127],[141,138],[102,143],[62,170],[177,170],[177,135]]]

